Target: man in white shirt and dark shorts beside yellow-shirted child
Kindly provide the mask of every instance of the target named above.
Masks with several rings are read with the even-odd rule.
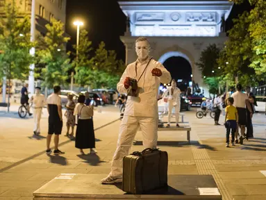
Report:
[[[234,99],[233,106],[235,106],[235,108],[238,110],[238,116],[239,116],[238,127],[240,127],[240,131],[241,131],[241,136],[239,140],[240,140],[240,144],[243,144],[245,126],[247,126],[246,106],[247,106],[247,109],[249,110],[250,118],[252,118],[253,113],[252,113],[251,106],[249,103],[249,97],[247,96],[247,94],[244,94],[242,92],[242,85],[240,83],[236,85],[236,89],[238,91],[232,94],[232,97]],[[235,143],[238,143],[238,127],[237,127],[236,134],[235,134]]]

